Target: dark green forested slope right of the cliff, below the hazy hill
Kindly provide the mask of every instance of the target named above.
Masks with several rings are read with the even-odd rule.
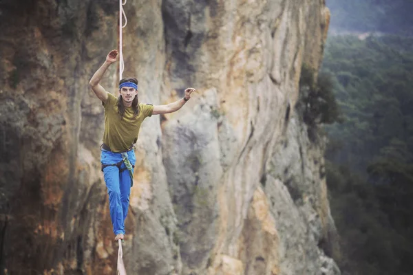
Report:
[[[343,121],[326,126],[327,182],[343,274],[412,274],[413,39],[332,36]]]

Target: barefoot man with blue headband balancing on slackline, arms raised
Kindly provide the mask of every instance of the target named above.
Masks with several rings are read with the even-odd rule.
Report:
[[[118,51],[107,54],[106,61],[96,71],[89,85],[105,108],[105,131],[101,146],[100,162],[109,193],[109,210],[115,241],[123,240],[125,219],[129,208],[129,195],[133,184],[136,162],[134,143],[138,140],[140,124],[151,115],[178,111],[191,98],[195,89],[185,89],[184,98],[167,104],[156,105],[138,102],[138,80],[123,78],[119,82],[119,98],[108,93],[100,84],[107,68],[116,62]]]

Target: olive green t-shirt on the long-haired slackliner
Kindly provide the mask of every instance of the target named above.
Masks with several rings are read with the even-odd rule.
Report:
[[[140,124],[152,115],[153,105],[139,103],[139,113],[134,118],[134,109],[125,107],[123,118],[118,113],[118,98],[107,93],[105,108],[105,132],[103,143],[109,146],[112,152],[127,151],[138,140]]]

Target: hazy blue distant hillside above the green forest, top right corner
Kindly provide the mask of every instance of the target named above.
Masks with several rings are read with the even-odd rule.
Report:
[[[332,32],[413,34],[413,1],[326,0]]]

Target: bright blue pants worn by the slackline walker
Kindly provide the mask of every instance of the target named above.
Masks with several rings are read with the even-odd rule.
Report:
[[[136,157],[134,150],[127,152],[127,157],[132,165],[135,165]],[[102,164],[116,164],[122,161],[120,153],[113,153],[102,149],[100,162]],[[129,208],[129,195],[131,194],[131,176],[125,164],[120,168],[125,169],[120,173],[117,166],[103,168],[107,193],[109,194],[109,210],[115,234],[125,234],[125,219]]]

